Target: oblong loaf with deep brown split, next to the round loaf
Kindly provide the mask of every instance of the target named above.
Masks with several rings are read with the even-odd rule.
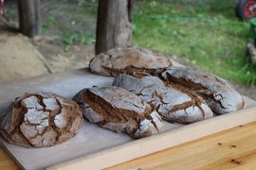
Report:
[[[134,93],[119,87],[94,87],[74,96],[84,117],[133,138],[142,138],[158,133],[162,127],[160,116]]]

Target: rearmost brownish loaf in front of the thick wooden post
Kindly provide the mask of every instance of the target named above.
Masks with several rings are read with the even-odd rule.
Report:
[[[111,49],[97,55],[89,64],[91,71],[99,75],[125,73],[138,77],[155,75],[157,69],[171,65],[170,59],[137,46]]]

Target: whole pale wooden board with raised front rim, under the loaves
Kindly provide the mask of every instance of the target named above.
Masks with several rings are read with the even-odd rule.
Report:
[[[45,91],[72,97],[82,88],[93,85],[107,86],[111,85],[112,81],[112,77],[95,76],[83,69],[0,83],[0,110],[4,110],[9,101],[16,96],[26,92]],[[103,168],[255,121],[255,108],[249,108],[252,105],[255,105],[255,102],[247,99],[247,110],[217,116],[184,127],[181,124],[165,124],[161,134],[137,141],[133,141],[125,134],[115,133],[87,122],[84,122],[84,126],[74,139],[53,147],[25,148],[8,144],[3,138],[0,138],[0,141],[10,155],[26,169],[43,169],[49,166],[49,169],[77,169],[84,166]]]

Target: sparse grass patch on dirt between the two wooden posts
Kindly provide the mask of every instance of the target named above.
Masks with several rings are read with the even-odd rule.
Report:
[[[90,16],[86,14],[97,9],[95,2],[90,2],[89,5],[95,6],[89,8],[85,7],[88,4],[86,1],[62,0],[62,3],[62,7],[48,14],[42,25],[42,34],[54,34],[57,40],[64,42],[65,51],[75,43],[95,43],[95,33],[91,33],[91,28],[86,26],[91,25]]]

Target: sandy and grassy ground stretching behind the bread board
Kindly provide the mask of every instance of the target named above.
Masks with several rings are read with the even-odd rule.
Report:
[[[15,26],[17,25],[15,3],[13,0],[7,2],[6,18]],[[143,1],[138,1],[138,3],[141,2]],[[188,9],[184,9],[180,4],[174,4],[175,10],[172,9],[172,13],[167,15],[161,13],[166,8],[162,8],[156,1],[145,4],[145,8],[136,8],[134,42],[138,45],[158,50],[183,64],[199,67],[199,69],[210,71],[210,73],[218,76],[227,76],[226,78],[235,85],[239,92],[256,99],[255,86],[253,85],[254,76],[249,75],[253,73],[253,70],[245,70],[247,65],[242,65],[242,68],[237,71],[240,75],[233,71],[238,69],[236,62],[245,64],[244,59],[237,59],[237,57],[245,53],[241,44],[247,41],[247,35],[243,36],[244,28],[247,25],[241,24],[236,20],[228,21],[230,17],[233,20],[233,16],[229,16],[230,12],[228,13],[227,11],[225,11],[227,14],[223,14],[224,16],[215,16],[218,14],[217,12],[221,11],[221,8],[212,9],[210,6],[206,6],[210,12],[213,12],[212,15],[214,17],[212,19],[210,15],[201,14],[202,8],[190,7],[192,1],[184,0],[182,3],[188,3],[189,7],[189,11],[184,12],[184,16],[177,16],[178,10]],[[230,4],[228,5],[230,6]],[[224,5],[226,6],[226,4]],[[27,39],[20,34],[3,31],[5,26],[3,24],[2,26],[0,25],[0,36],[2,36],[0,37],[0,55],[5,56],[5,58],[1,58],[4,61],[0,60],[2,64],[0,64],[0,81],[86,67],[89,60],[94,57],[97,7],[93,1],[62,0],[62,3],[60,3],[60,0],[42,0],[41,7],[43,18],[41,36]],[[158,10],[158,8],[162,9]],[[148,14],[152,10],[155,13]],[[192,18],[189,18],[189,15],[193,15]],[[152,24],[155,24],[153,23],[155,20],[158,23],[152,26]],[[145,26],[141,25],[143,22],[145,22]],[[223,30],[227,25],[230,25],[228,29]],[[148,29],[148,27],[152,29]],[[161,27],[164,27],[166,31],[163,32],[160,29]],[[168,27],[169,29],[167,29]],[[235,27],[235,33],[232,32],[231,27]],[[192,29],[192,31],[188,32],[188,29]],[[198,31],[203,36],[198,34]],[[208,37],[207,33],[210,31],[214,31],[212,35],[215,37],[212,37],[212,40],[200,39],[204,36]],[[155,35],[158,35],[159,38],[155,37]],[[241,41],[243,42],[241,43]],[[167,47],[164,46],[165,43]],[[204,46],[200,44],[204,44]],[[215,46],[211,47],[211,45]],[[225,48],[222,49],[223,46]],[[237,51],[232,50],[230,46],[233,46]],[[217,56],[216,59],[211,60],[210,64],[206,64],[206,60],[209,59],[208,56],[214,55]],[[229,56],[234,57],[229,58]],[[227,62],[228,65],[236,64],[234,67],[229,68],[232,71],[229,75],[225,73],[225,70],[219,68],[219,64],[223,61],[220,59],[231,61]],[[215,65],[212,63],[215,63]],[[206,68],[205,66],[208,67]],[[240,67],[240,65],[238,66]],[[226,65],[223,67],[225,68]],[[218,72],[219,70],[222,72]],[[235,78],[232,79],[234,76]],[[244,77],[247,79],[252,77],[252,83],[250,79],[248,83],[243,84]],[[248,84],[252,85],[248,86]]]

